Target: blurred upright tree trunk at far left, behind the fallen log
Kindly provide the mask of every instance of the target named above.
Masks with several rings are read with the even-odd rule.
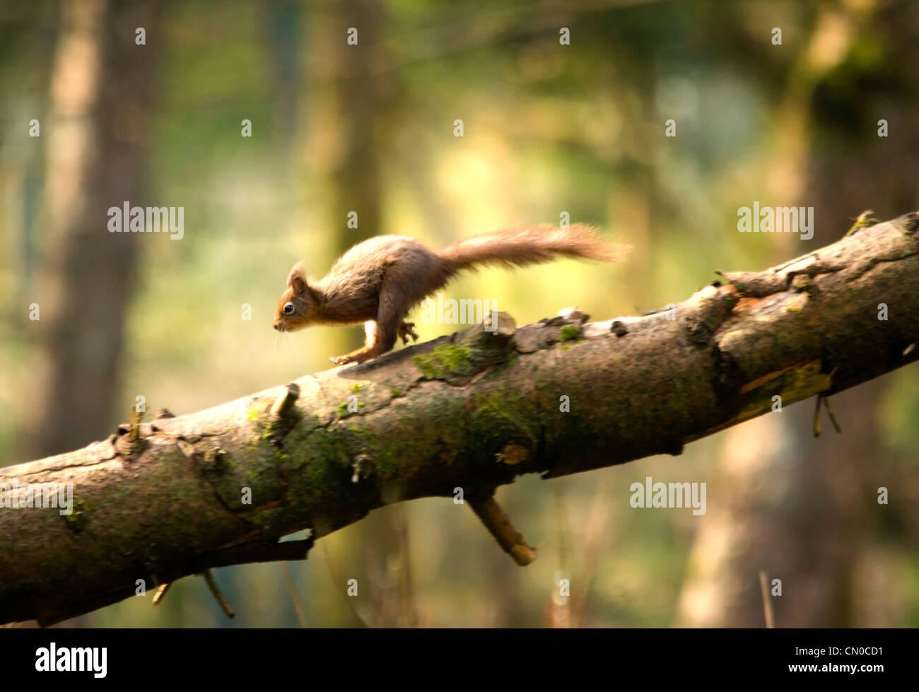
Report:
[[[145,203],[158,10],[152,0],[63,5],[40,239],[48,268],[40,320],[29,323],[45,368],[28,445],[40,456],[84,445],[111,423],[135,259],[151,239],[108,233],[108,208]],[[146,45],[135,43],[139,27]]]

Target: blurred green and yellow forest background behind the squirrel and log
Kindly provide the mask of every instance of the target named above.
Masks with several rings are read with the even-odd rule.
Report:
[[[447,295],[608,319],[831,243],[863,210],[919,209],[917,170],[919,3],[2,0],[0,466],[107,437],[138,394],[184,414],[326,369],[360,328],[278,335],[275,302],[294,262],[322,276],[372,235],[441,246],[567,211],[628,262]],[[184,239],[108,233],[124,200],[184,207]],[[754,200],[813,207],[814,238],[738,233]],[[525,569],[426,499],[319,541],[292,590],[312,627],[762,627],[763,570],[778,627],[916,627],[917,384],[835,397],[841,435],[814,439],[805,402],[678,458],[522,478],[498,498],[539,549]],[[646,476],[707,482],[707,514],[631,508]],[[282,565],[215,575],[233,620],[187,578],[67,624],[298,625]]]

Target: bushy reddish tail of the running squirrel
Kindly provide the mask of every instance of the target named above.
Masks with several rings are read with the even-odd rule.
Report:
[[[627,246],[608,244],[590,227],[575,223],[568,228],[543,225],[473,235],[437,251],[437,255],[457,272],[478,265],[527,267],[559,257],[615,262],[627,250]]]

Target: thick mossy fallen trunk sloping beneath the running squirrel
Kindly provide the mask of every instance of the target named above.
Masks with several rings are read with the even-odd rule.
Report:
[[[136,440],[121,426],[0,470],[0,483],[74,488],[69,516],[0,508],[0,622],[71,618],[132,596],[138,579],[302,558],[312,539],[394,502],[461,487],[481,508],[523,473],[677,455],[776,397],[827,397],[900,368],[919,358],[917,228],[919,213],[854,228],[645,317],[566,312],[516,329],[498,315],[494,332],[472,327],[141,424]],[[0,502],[28,498],[5,490]],[[278,544],[302,528],[310,541]],[[504,532],[505,549],[526,546],[509,521]]]

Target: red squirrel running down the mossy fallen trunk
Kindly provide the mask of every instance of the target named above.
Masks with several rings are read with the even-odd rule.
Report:
[[[329,358],[337,365],[362,363],[390,351],[397,337],[403,344],[409,336],[417,341],[414,323],[405,322],[409,310],[464,269],[527,267],[558,256],[611,262],[625,249],[581,224],[484,233],[443,250],[404,235],[381,235],[352,247],[319,281],[306,278],[302,262],[294,265],[272,326],[293,332],[312,324],[365,323],[365,346]]]

